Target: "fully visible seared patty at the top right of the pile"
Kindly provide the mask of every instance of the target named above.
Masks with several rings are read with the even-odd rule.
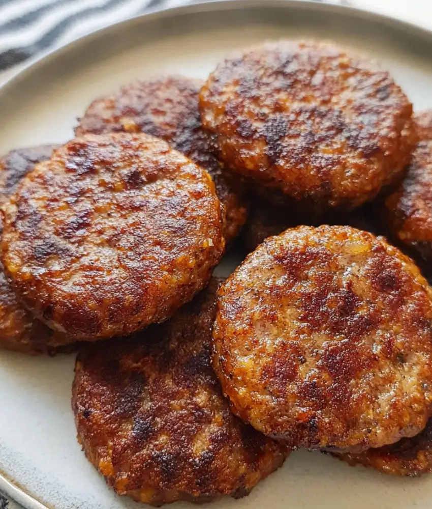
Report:
[[[371,200],[416,143],[412,104],[388,72],[327,43],[233,54],[210,74],[200,109],[232,169],[323,208]]]

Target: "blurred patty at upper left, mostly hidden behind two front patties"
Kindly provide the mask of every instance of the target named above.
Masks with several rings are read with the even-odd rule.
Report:
[[[145,132],[165,139],[211,175],[224,206],[224,235],[229,242],[239,234],[248,205],[233,176],[211,153],[213,140],[202,129],[198,110],[202,84],[184,76],[135,81],[116,94],[93,101],[75,131],[77,136],[86,132]]]

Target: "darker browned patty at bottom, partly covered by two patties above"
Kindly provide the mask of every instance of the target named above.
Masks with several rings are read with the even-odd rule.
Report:
[[[78,440],[120,495],[152,505],[238,498],[288,455],[222,395],[210,362],[216,292],[212,279],[168,322],[78,357]]]

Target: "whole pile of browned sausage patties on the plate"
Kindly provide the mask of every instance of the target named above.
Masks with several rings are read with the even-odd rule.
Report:
[[[240,497],[297,448],[428,471],[432,291],[371,232],[428,260],[431,131],[319,42],[96,99],[0,163],[0,344],[79,345],[78,440],[138,501]],[[227,248],[253,252],[221,281]]]

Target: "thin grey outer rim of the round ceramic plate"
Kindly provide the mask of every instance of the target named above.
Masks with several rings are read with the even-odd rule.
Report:
[[[391,15],[377,13],[360,7],[321,3],[317,0],[199,0],[192,4],[149,10],[143,14],[138,14],[122,21],[110,23],[100,29],[84,34],[65,45],[42,52],[37,57],[29,59],[20,71],[10,76],[0,85],[0,97],[7,94],[8,91],[16,84],[25,80],[33,72],[37,71],[40,66],[49,63],[51,60],[61,58],[61,55],[65,53],[70,51],[73,52],[78,49],[81,44],[86,44],[91,41],[91,39],[98,39],[101,35],[105,35],[111,30],[125,30],[126,27],[131,24],[152,23],[158,19],[176,17],[179,15],[263,8],[315,11],[323,12],[326,15],[331,13],[346,14],[352,18],[361,18],[365,21],[381,23],[386,26],[390,26],[396,31],[402,31],[406,34],[414,35],[417,38],[425,40],[432,48],[432,30],[428,30],[423,26],[404,21]],[[35,496],[27,493],[24,488],[21,488],[18,483],[9,479],[8,475],[0,470],[0,495],[2,494],[12,501],[20,504],[23,509],[55,509],[55,507],[50,508],[40,502]]]

